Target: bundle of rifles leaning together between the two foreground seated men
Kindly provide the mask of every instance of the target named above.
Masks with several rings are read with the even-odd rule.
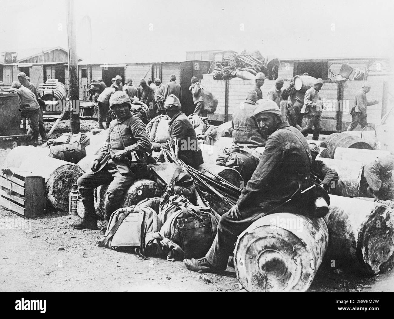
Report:
[[[178,159],[177,140],[175,140],[175,151],[171,147],[169,141],[167,141],[167,144],[170,150],[166,152],[166,150],[163,149],[165,161],[170,161],[171,158],[172,161],[186,169],[194,180],[197,191],[196,195],[200,197],[205,206],[211,207],[219,215],[223,215],[236,204],[242,189],[232,185],[230,182],[208,169],[203,169],[203,171],[200,172]]]

